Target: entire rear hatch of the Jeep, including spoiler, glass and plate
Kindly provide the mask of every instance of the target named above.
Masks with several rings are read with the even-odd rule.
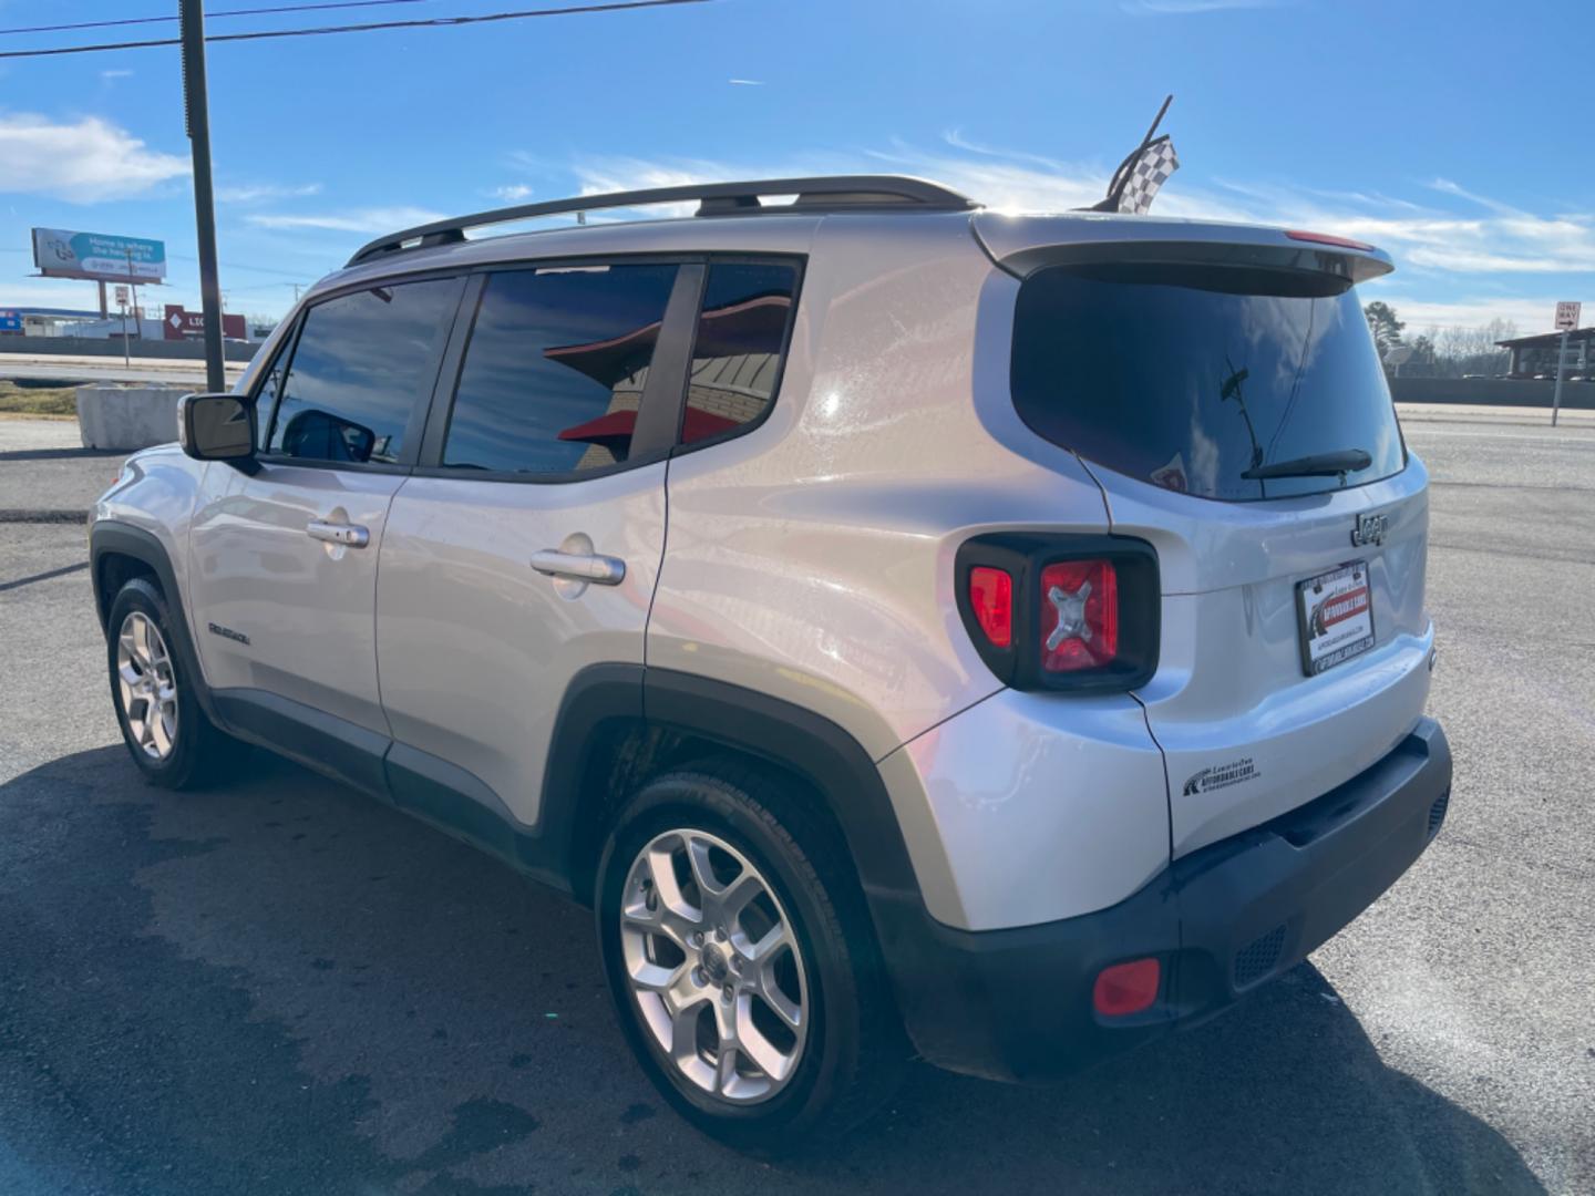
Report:
[[[1024,284],[1021,418],[1158,550],[1137,697],[1174,855],[1367,769],[1423,713],[1428,493],[1354,284],[1367,247],[1274,230],[976,217]]]

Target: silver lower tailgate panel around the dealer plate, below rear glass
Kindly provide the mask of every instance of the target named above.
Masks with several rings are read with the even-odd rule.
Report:
[[[1434,644],[1421,461],[1383,482],[1260,502],[1091,470],[1113,531],[1152,544],[1163,571],[1161,659],[1137,695],[1168,756],[1176,856],[1327,793],[1416,726]],[[1365,513],[1386,518],[1383,542],[1354,545]],[[1345,561],[1367,563],[1375,646],[1306,676],[1297,584]]]

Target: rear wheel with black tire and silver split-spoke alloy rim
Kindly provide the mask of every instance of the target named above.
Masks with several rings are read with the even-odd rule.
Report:
[[[847,847],[782,777],[726,761],[649,781],[609,836],[595,909],[625,1037],[705,1134],[786,1155],[896,1089],[911,1051]]]

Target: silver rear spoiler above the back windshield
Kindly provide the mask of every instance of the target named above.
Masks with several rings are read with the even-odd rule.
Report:
[[[1348,284],[1389,274],[1389,254],[1359,241],[1254,225],[1097,215],[976,212],[975,236],[992,262],[1024,279],[1045,266],[1144,263],[1327,274]]]

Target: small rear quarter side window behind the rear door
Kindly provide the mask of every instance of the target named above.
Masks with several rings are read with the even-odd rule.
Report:
[[[796,266],[710,266],[681,443],[707,440],[764,415],[775,397],[796,289]]]

